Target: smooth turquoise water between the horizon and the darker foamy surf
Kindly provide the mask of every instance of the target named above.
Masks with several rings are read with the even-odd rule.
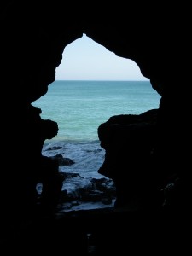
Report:
[[[97,128],[111,116],[158,108],[160,96],[149,81],[55,81],[33,106],[59,125],[52,141],[97,140]]]

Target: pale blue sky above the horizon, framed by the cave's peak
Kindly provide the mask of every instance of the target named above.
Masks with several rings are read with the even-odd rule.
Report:
[[[136,62],[115,55],[85,34],[63,51],[55,80],[135,80],[143,77]]]

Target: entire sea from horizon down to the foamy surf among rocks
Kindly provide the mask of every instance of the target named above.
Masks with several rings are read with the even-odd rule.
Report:
[[[63,204],[61,211],[113,207],[115,198],[109,203],[96,201],[96,181],[105,183],[106,188],[113,187],[113,181],[98,173],[105,150],[100,146],[97,128],[113,115],[140,114],[159,108],[159,104],[160,95],[148,80],[55,80],[44,96],[32,102],[41,108],[42,119],[51,119],[59,127],[58,134],[44,142],[42,154],[60,154],[73,161],[72,165],[60,166],[60,172],[68,175],[62,189],[73,198]],[[94,189],[93,200],[89,196],[84,202],[79,200],[84,198],[82,193],[93,194]]]

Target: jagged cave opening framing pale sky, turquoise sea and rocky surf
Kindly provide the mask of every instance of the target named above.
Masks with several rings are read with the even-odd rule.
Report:
[[[57,136],[44,142],[43,154],[60,157],[60,171],[67,175],[62,209],[113,207],[113,180],[98,173],[105,150],[97,129],[111,116],[158,108],[160,96],[134,61],[85,35],[67,45],[55,73],[47,94],[32,105],[41,108],[43,119],[59,126]],[[37,189],[40,193],[39,184]]]

